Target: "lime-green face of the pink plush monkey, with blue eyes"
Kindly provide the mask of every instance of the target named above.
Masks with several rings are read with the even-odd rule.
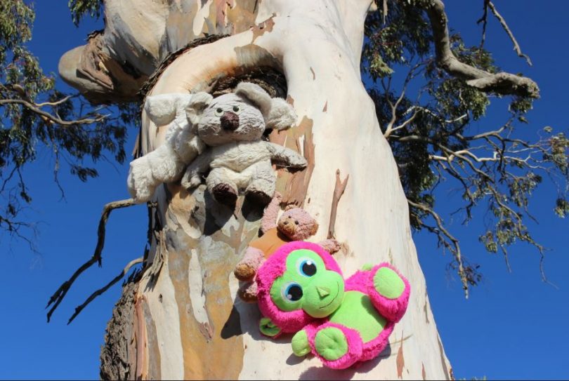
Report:
[[[271,286],[270,298],[282,311],[303,309],[310,316],[323,318],[344,300],[344,279],[326,269],[313,250],[294,250],[287,257],[286,271]]]

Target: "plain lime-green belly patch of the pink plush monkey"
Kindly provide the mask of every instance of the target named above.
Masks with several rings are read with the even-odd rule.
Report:
[[[373,340],[386,325],[386,320],[373,307],[369,297],[359,291],[346,291],[344,302],[329,320],[357,330],[363,342]]]

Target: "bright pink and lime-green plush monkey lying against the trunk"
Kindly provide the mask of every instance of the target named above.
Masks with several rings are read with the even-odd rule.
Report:
[[[294,333],[296,356],[313,353],[325,366],[344,369],[379,356],[405,314],[410,285],[388,263],[344,280],[321,246],[284,244],[259,268],[257,298],[263,335]]]

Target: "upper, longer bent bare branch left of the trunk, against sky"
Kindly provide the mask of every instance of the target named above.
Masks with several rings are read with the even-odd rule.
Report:
[[[100,216],[99,226],[97,229],[97,237],[98,237],[97,246],[95,247],[93,256],[91,257],[91,259],[89,259],[87,262],[81,265],[81,267],[79,267],[79,269],[77,269],[73,273],[70,279],[65,281],[58,288],[58,290],[56,290],[55,293],[51,295],[51,298],[49,298],[49,302],[46,305],[46,308],[48,308],[50,305],[53,304],[53,306],[51,307],[51,309],[48,311],[47,314],[48,322],[51,319],[51,314],[53,314],[53,312],[55,311],[55,309],[57,309],[60,302],[63,300],[63,298],[65,298],[65,294],[67,294],[67,291],[69,291],[70,287],[72,286],[73,282],[77,279],[77,277],[81,275],[81,273],[84,272],[86,269],[89,269],[89,267],[95,265],[95,263],[98,263],[99,267],[101,266],[101,258],[102,258],[101,253],[103,252],[103,247],[105,246],[105,229],[106,229],[107,220],[112,210],[119,208],[126,208],[128,206],[133,206],[133,205],[135,205],[133,199],[125,199],[119,201],[112,201],[110,203],[107,203],[103,207],[103,213]]]

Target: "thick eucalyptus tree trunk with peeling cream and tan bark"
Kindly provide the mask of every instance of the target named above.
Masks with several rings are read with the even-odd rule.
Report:
[[[283,202],[315,216],[320,230],[313,241],[327,238],[335,220],[329,230],[342,243],[335,257],[346,275],[388,261],[412,285],[407,314],[379,359],[340,371],[297,359],[290,338],[261,337],[258,307],[236,298],[233,268],[258,233],[260,211],[242,212],[239,200],[234,213],[203,185],[191,194],[179,182],[164,185],[155,194],[145,268],[124,288],[107,328],[101,377],[452,378],[398,169],[360,77],[370,6],[371,0],[106,0],[105,31],[63,56],[62,76],[95,102],[132,100],[145,81],[147,95],[157,95],[214,92],[251,73],[259,81],[263,73],[284,74],[274,93],[285,95],[299,118],[270,140],[301,152],[308,168],[279,170]],[[204,40],[204,32],[228,36]],[[141,117],[145,154],[163,142],[166,126]],[[336,177],[348,175],[337,202]]]

